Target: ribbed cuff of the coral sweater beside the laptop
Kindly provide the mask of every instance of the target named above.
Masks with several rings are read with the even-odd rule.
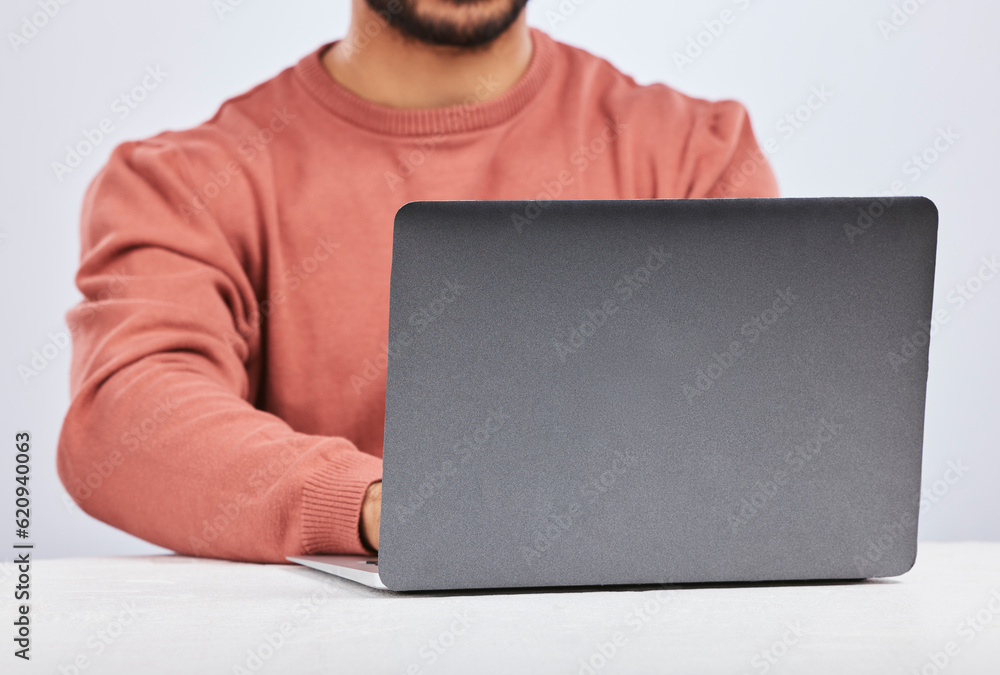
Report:
[[[361,451],[330,459],[302,489],[302,548],[306,555],[368,553],[358,520],[365,491],[382,480],[382,460]]]

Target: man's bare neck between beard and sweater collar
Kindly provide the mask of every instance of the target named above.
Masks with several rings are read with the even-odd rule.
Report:
[[[532,43],[524,14],[490,44],[463,49],[404,37],[355,0],[347,36],[326,51],[323,67],[354,94],[393,108],[482,102],[510,89],[528,68]],[[379,32],[369,37],[366,25]]]

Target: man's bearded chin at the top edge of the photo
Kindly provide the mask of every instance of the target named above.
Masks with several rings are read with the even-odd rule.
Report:
[[[420,0],[365,2],[404,36],[428,45],[471,49],[503,35],[528,0],[440,0],[430,10],[419,8]],[[482,11],[470,12],[474,6]]]

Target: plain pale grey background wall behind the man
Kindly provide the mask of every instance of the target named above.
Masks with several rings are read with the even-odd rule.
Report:
[[[873,195],[898,180],[905,194],[937,203],[935,306],[951,318],[931,348],[920,536],[996,540],[1000,283],[985,283],[961,308],[948,297],[984,255],[1000,254],[989,207],[1000,151],[1000,6],[910,2],[919,9],[888,36],[879,21],[889,20],[900,0],[532,0],[529,22],[640,82],[745,103],[758,138],[777,143],[770,159],[784,196]],[[674,53],[724,9],[735,21],[679,68]],[[16,368],[49,342],[48,333],[65,330],[64,314],[79,298],[80,202],[113,146],[210,117],[226,98],[343,35],[348,2],[243,0],[221,16],[211,0],[70,2],[15,52],[8,32],[36,11],[33,0],[9,0],[0,10],[0,443],[12,450],[16,430],[34,436],[36,556],[156,551],[85,515],[59,484],[54,454],[68,405],[68,350],[27,385]],[[113,116],[112,101],[157,65],[165,81],[116,121],[79,168],[56,180],[51,163],[64,146]],[[824,86],[832,97],[786,137],[782,118]],[[911,156],[949,128],[958,138],[947,152],[919,175],[909,172]],[[4,456],[2,472],[10,476],[13,453]],[[949,462],[968,467],[954,484],[944,482]]]

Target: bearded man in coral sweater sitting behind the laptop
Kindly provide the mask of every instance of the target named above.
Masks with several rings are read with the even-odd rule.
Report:
[[[67,315],[84,510],[193,555],[377,550],[401,205],[776,196],[742,106],[640,87],[526,2],[354,0],[343,40],[115,149]]]

